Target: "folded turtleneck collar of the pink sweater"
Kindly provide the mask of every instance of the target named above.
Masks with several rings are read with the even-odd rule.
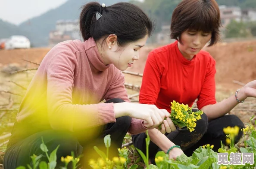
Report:
[[[97,48],[96,42],[91,37],[84,42],[85,53],[87,54],[88,60],[90,60],[91,64],[99,71],[103,72],[108,69],[109,65],[105,65],[103,58]]]

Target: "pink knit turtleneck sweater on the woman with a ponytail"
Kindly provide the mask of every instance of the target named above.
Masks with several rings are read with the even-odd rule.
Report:
[[[112,98],[129,102],[124,75],[105,65],[93,38],[56,45],[42,60],[22,100],[17,121],[41,128],[76,131],[116,121]],[[142,133],[143,121],[132,119],[129,133]]]

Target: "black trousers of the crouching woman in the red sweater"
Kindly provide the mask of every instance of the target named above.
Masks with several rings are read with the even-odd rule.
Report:
[[[193,111],[197,111],[194,110]],[[213,151],[218,152],[221,147],[221,140],[225,144],[226,135],[223,132],[224,127],[238,126],[240,129],[244,128],[244,123],[235,115],[225,115],[215,120],[209,121],[206,114],[202,115],[202,119],[197,121],[195,130],[190,133],[187,127],[182,129],[176,128],[171,133],[166,133],[165,136],[171,140],[175,145],[179,145],[188,157],[200,146],[210,144],[214,145]],[[243,132],[239,130],[239,134],[235,139],[237,143],[242,137]],[[146,133],[140,133],[132,136],[134,146],[146,154]],[[156,144],[150,141],[149,157],[151,163],[155,163],[155,156],[158,151],[162,151]]]

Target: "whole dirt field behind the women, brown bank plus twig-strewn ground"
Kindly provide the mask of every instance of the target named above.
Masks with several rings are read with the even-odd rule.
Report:
[[[144,47],[140,51],[140,59],[134,62],[128,71],[143,73],[147,54],[153,50],[154,47]],[[29,80],[34,75],[36,70],[28,71],[26,73],[18,73],[10,75],[3,72],[9,67],[14,67],[15,70],[29,69],[38,67],[36,64],[29,63],[29,60],[35,63],[41,63],[41,60],[47,54],[50,48],[31,48],[31,49],[16,49],[16,50],[0,50],[0,109],[5,109],[9,105],[10,96],[14,100],[13,109],[18,109],[22,97],[9,94],[3,91],[12,91],[15,94],[23,95],[25,90],[21,90],[13,82],[26,87]],[[241,88],[240,84],[234,83],[239,81],[246,84],[251,80],[256,79],[256,40],[246,42],[232,42],[232,43],[219,43],[215,46],[205,48],[212,57],[216,60],[216,99],[221,101],[234,95],[234,91]],[[24,60],[25,59],[25,60]],[[8,69],[7,69],[8,70]],[[8,71],[7,71],[8,72]],[[141,84],[142,77],[125,74],[125,81],[129,84]],[[13,81],[13,82],[12,82]],[[138,91],[127,89],[128,94],[136,94]],[[138,97],[133,98],[138,100]],[[5,113],[5,114],[4,114]],[[244,123],[250,121],[250,117],[256,114],[256,99],[247,99],[243,104],[239,104],[233,109],[230,114],[237,115]],[[8,138],[3,136],[8,135],[12,128],[12,122],[15,119],[15,111],[11,113],[0,112],[0,164],[2,163],[1,154],[3,154]],[[254,123],[255,120],[253,120]]]

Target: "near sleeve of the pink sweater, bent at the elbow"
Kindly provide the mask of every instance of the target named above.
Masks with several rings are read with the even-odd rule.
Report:
[[[75,54],[64,51],[47,66],[47,111],[54,130],[75,131],[116,122],[113,103],[78,105],[72,103]]]

